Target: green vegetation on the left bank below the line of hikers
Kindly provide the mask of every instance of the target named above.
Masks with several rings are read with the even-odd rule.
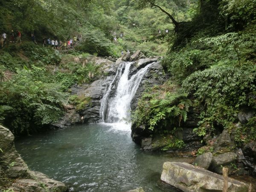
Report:
[[[76,55],[81,54],[76,52]],[[71,102],[69,87],[89,83],[100,75],[100,66],[93,61],[83,67],[74,57],[56,55],[51,48],[28,42],[1,51],[0,123],[16,135],[26,135],[58,121],[64,114],[64,106]],[[83,57],[89,54],[84,53]],[[85,101],[79,101],[76,103],[81,108]]]

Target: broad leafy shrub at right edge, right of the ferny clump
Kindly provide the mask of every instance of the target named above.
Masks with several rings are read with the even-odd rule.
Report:
[[[201,123],[217,122],[224,128],[230,128],[236,121],[239,107],[256,108],[255,72],[255,65],[241,68],[217,65],[188,76],[182,87],[193,95],[196,102],[206,105]]]

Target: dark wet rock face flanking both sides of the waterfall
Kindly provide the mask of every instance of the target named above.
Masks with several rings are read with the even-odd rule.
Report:
[[[131,109],[134,110],[137,107],[138,99],[141,95],[141,93],[145,90],[145,85],[152,86],[154,84],[160,84],[163,79],[152,79],[153,73],[163,73],[163,67],[160,64],[160,62],[156,62],[159,57],[154,58],[142,58],[143,55],[138,53],[138,55],[134,55],[132,57],[134,60],[139,59],[138,61],[134,62],[134,64],[131,65],[129,76],[136,74],[138,70],[145,67],[148,64],[151,64],[151,67],[149,67],[148,72],[143,77],[140,86],[134,96],[134,99],[131,102]],[[110,64],[109,67],[112,67],[111,69],[116,73],[116,68],[120,63],[124,61],[124,58],[117,59],[116,63]],[[107,69],[105,69],[107,70]],[[105,92],[108,90],[108,86],[111,84],[114,73],[109,73],[111,76],[107,76],[105,78],[99,79],[94,81],[90,85],[83,85],[81,87],[74,86],[71,87],[72,93],[77,95],[84,95],[90,98],[90,103],[82,110],[79,111],[80,116],[84,117],[84,122],[99,122],[99,111],[101,106],[101,99],[104,96]],[[116,87],[118,85],[118,81],[113,82],[110,92],[110,98],[116,93]],[[134,137],[136,134],[134,135]],[[140,137],[140,136],[139,136]],[[136,140],[136,139],[135,139]],[[141,140],[140,140],[141,141]]]

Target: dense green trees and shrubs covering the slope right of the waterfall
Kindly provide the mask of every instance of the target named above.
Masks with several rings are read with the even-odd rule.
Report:
[[[256,140],[255,117],[236,126],[239,111],[256,109],[255,9],[256,2],[247,0],[201,0],[191,6],[194,17],[175,25],[177,34],[168,39],[163,59],[177,89],[146,90],[133,122],[154,133],[176,131],[194,110],[201,119],[194,129],[199,136],[226,128],[236,130],[238,144]]]

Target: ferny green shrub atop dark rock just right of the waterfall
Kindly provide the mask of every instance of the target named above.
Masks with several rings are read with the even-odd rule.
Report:
[[[150,130],[175,130],[182,120],[186,122],[187,111],[191,101],[187,94],[175,91],[175,85],[170,82],[162,87],[147,90],[138,102],[136,111],[132,114],[132,121],[137,125],[147,125]]]

